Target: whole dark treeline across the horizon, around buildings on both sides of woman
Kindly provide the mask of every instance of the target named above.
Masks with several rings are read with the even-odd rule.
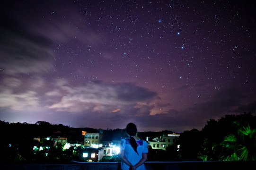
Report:
[[[0,162],[11,163],[81,161],[79,147],[75,152],[73,148],[63,151],[61,147],[52,147],[47,153],[45,150],[35,153],[33,147],[39,146],[39,142],[34,140],[36,137],[67,137],[67,142],[71,144],[83,144],[82,131],[104,133],[104,141],[127,137],[125,129],[73,128],[44,121],[35,124],[0,121],[0,131]],[[139,132],[138,137],[142,140],[149,137],[150,141],[170,133],[172,131],[168,130]],[[48,143],[53,145],[54,141],[50,140]],[[44,144],[47,145],[46,142]],[[107,161],[119,161],[119,157],[113,156]],[[218,120],[210,119],[201,131],[192,129],[181,133],[176,144],[168,146],[166,151],[149,147],[148,161],[256,161],[256,116],[244,113],[226,115]]]

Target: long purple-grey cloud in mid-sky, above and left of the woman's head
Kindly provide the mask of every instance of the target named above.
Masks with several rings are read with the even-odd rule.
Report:
[[[49,107],[59,111],[80,112],[86,110],[85,105],[94,105],[93,110],[99,112],[125,110],[126,106],[135,105],[137,102],[149,102],[157,96],[157,93],[132,83],[97,82],[72,88],[68,86],[60,88],[67,91],[67,95],[64,95],[60,102]],[[81,105],[79,102],[84,104]]]

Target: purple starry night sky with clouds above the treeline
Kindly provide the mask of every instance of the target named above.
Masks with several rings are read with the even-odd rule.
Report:
[[[2,121],[181,133],[255,114],[252,0],[0,6]]]

